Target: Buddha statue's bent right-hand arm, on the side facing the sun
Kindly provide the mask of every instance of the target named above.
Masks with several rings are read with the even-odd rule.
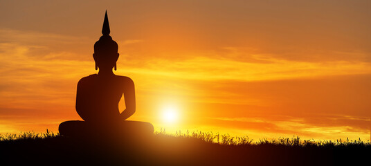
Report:
[[[126,109],[121,113],[121,117],[126,120],[136,111],[134,82],[129,77],[125,79],[124,97]]]

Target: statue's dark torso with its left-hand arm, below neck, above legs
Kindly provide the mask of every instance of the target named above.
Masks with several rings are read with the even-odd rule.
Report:
[[[120,118],[118,103],[129,77],[89,75],[78,83],[76,111],[87,122],[112,122]]]

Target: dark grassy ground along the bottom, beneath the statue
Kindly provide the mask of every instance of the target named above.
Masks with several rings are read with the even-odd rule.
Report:
[[[254,141],[201,131],[161,130],[138,140],[116,134],[66,138],[46,130],[6,133],[0,140],[1,165],[357,165],[371,154],[370,141],[298,136]]]

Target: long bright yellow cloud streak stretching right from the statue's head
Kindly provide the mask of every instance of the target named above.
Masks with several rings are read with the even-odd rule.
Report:
[[[273,58],[264,60],[269,63],[192,57],[179,61],[148,59],[142,62],[141,68],[134,66],[136,62],[121,62],[120,64],[130,66],[131,68],[126,68],[126,70],[132,73],[163,75],[190,80],[236,80],[245,82],[371,73],[371,65],[367,62],[292,62]]]

